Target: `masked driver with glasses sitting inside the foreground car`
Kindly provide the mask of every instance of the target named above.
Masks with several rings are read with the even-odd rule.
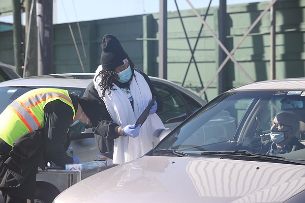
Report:
[[[297,139],[300,134],[300,121],[294,114],[279,113],[270,121],[270,126],[270,140],[262,140],[259,137],[244,139],[243,148],[266,154],[284,154],[305,148]]]

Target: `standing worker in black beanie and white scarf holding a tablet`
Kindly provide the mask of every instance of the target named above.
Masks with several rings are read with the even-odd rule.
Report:
[[[102,121],[93,128],[100,153],[113,158],[113,163],[122,164],[141,157],[158,144],[153,133],[164,128],[155,114],[162,111],[162,97],[149,77],[134,68],[116,36],[106,34],[102,50],[101,64],[84,95],[98,98],[101,104]],[[154,96],[150,115],[142,126],[135,126]]]

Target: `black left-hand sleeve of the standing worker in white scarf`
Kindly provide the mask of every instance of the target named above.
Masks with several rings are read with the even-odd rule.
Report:
[[[84,96],[95,97],[96,99],[98,99],[101,105],[101,121],[95,128],[92,128],[94,134],[103,136],[108,140],[114,140],[120,137],[120,135],[118,134],[119,125],[112,120],[109,112],[107,111],[106,105],[104,101],[99,97],[93,82],[91,82],[86,88]]]

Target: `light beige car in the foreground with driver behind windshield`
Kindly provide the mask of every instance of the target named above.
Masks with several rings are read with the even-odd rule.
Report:
[[[256,142],[244,145],[270,140],[279,112],[300,116],[304,142],[305,78],[222,93],[146,155],[76,183],[54,203],[302,203],[305,149],[267,155]]]

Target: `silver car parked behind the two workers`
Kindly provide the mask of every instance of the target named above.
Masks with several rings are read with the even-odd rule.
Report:
[[[33,76],[0,83],[0,113],[13,100],[33,88],[57,87],[67,89],[69,93],[83,96],[91,83],[93,73],[67,73]],[[200,97],[170,81],[150,77],[152,84],[163,98],[163,111],[158,113],[167,128],[173,129],[187,116],[202,107],[206,102]],[[83,133],[70,134],[71,144],[67,153],[79,156],[80,162],[96,160],[98,149],[95,146],[91,129]],[[36,201],[51,203],[53,199],[68,187],[65,174],[37,174]]]

